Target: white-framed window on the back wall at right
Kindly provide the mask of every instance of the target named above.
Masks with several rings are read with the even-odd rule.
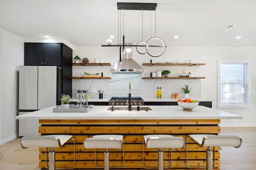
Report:
[[[218,61],[218,107],[249,107],[249,62]]]

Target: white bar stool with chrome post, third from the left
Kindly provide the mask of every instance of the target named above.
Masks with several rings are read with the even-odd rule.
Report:
[[[149,134],[144,135],[146,148],[159,148],[158,150],[158,170],[164,169],[164,151],[162,148],[171,148],[170,150],[170,165],[165,168],[170,168],[172,165],[172,150],[173,148],[184,148],[185,141],[182,137],[175,137],[168,134]],[[143,143],[142,143],[143,145]],[[144,166],[144,147],[142,146],[143,166]],[[147,168],[146,169],[153,169]]]

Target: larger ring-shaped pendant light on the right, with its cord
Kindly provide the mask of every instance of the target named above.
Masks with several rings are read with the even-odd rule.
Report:
[[[150,20],[151,20],[151,17],[150,17]],[[148,55],[152,57],[159,57],[164,53],[165,49],[166,49],[166,45],[164,43],[164,40],[162,40],[159,37],[156,37],[156,10],[155,10],[155,37],[150,38],[146,43],[146,51]]]

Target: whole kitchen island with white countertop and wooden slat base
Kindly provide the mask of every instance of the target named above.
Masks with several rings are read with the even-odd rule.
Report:
[[[122,134],[124,135],[124,166],[129,169],[143,169],[142,158],[145,166],[157,167],[157,150],[146,149],[142,146],[145,134],[172,134],[182,136],[187,134],[218,134],[220,133],[220,119],[242,119],[242,116],[227,113],[217,109],[198,106],[193,111],[182,111],[179,106],[141,106],[150,107],[152,110],[122,111],[107,110],[111,106],[95,106],[88,113],[53,113],[54,107],[42,109],[16,119],[39,119],[39,133],[47,134],[73,134],[76,139],[76,153],[74,144],[70,141],[69,147],[56,148],[56,167],[72,168],[74,157],[76,169],[97,168],[93,149],[85,150],[84,139],[95,134]],[[135,107],[135,106],[133,106]],[[188,162],[190,166],[205,166],[206,148],[198,148],[188,141]],[[40,148],[39,168],[46,168],[46,149]],[[144,155],[142,154],[144,150]],[[97,149],[97,162],[103,165],[104,154],[102,149]],[[164,166],[170,164],[170,151],[164,149]],[[24,151],[25,152],[25,151]],[[185,148],[172,151],[171,168],[186,169]],[[216,168],[220,168],[220,152],[217,149]],[[120,166],[123,160],[123,151],[110,149],[110,166]]]

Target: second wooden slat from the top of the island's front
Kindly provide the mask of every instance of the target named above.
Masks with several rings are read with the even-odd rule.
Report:
[[[39,133],[46,134],[203,134],[220,132],[220,127],[211,126],[124,126],[124,127],[109,127],[109,126],[41,126]]]

